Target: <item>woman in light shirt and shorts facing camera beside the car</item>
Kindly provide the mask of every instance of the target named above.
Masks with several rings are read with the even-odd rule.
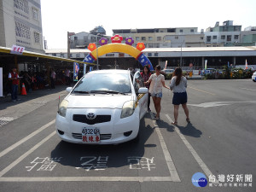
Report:
[[[149,93],[152,96],[153,102],[154,102],[154,108],[156,111],[156,115],[154,119],[159,120],[160,119],[160,110],[161,110],[161,98],[163,96],[162,93],[162,87],[165,87],[166,89],[170,89],[165,84],[165,76],[160,74],[161,67],[160,65],[155,67],[155,73],[150,76],[148,81],[145,83],[150,84],[149,86]]]

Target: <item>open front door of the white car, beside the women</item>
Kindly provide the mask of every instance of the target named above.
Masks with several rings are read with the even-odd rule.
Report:
[[[133,77],[133,86],[137,95],[137,106],[140,108],[140,119],[143,118],[145,113],[148,110],[148,93],[147,94],[138,94],[138,90],[141,87],[145,87],[143,78],[140,72],[134,74]]]

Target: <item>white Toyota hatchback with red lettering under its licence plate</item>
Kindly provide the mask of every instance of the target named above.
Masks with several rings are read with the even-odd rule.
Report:
[[[61,140],[116,144],[138,139],[140,119],[148,109],[148,89],[139,72],[90,72],[67,91],[55,123]]]

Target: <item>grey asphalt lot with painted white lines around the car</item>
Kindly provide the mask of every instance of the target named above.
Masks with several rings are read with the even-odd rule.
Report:
[[[164,89],[160,120],[151,102],[139,142],[108,146],[61,142],[55,114],[65,88],[0,101],[1,192],[256,191],[256,83],[250,79],[189,80],[191,123],[180,108],[176,126],[172,92]],[[193,185],[196,172],[207,176],[206,187]]]

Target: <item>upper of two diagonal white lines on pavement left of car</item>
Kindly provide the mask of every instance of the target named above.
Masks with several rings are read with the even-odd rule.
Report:
[[[21,139],[19,142],[13,144],[12,146],[10,146],[9,148],[4,149],[1,153],[0,153],[0,157],[3,157],[4,154],[8,154],[11,150],[17,148],[18,146],[20,146],[20,144],[25,143],[28,139],[34,137],[35,135],[37,135],[39,132],[44,131],[44,129],[46,129],[47,127],[49,127],[50,125],[53,125],[55,123],[55,119],[50,121],[48,124],[40,127],[37,131],[33,131],[31,134],[29,134],[27,137],[24,137],[23,139]]]

